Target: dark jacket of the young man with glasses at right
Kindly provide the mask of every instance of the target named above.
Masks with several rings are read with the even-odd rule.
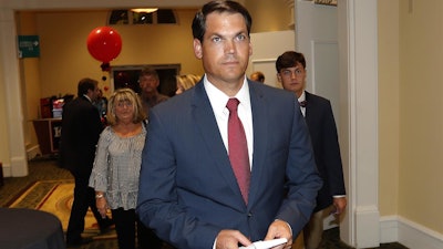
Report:
[[[330,101],[306,92],[306,123],[311,136],[317,168],[323,186],[315,211],[332,204],[332,196],[346,195],[340,146]]]

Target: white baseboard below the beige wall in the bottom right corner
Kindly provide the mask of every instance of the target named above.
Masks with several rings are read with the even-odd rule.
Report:
[[[380,218],[380,242],[400,242],[411,249],[441,249],[443,235],[400,216]]]

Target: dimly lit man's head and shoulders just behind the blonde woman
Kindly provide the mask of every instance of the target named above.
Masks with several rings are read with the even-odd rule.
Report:
[[[150,113],[150,108],[156,104],[167,101],[169,97],[158,93],[159,77],[155,69],[146,66],[140,72],[138,76],[140,87],[142,89],[141,97],[143,110],[146,115]]]

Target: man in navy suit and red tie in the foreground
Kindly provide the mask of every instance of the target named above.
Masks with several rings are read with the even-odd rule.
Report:
[[[276,238],[288,240],[277,248],[290,248],[316,205],[321,178],[296,97],[245,75],[250,24],[238,2],[206,3],[193,21],[203,80],[150,113],[137,212],[176,248],[237,249]],[[230,158],[233,101],[247,180],[237,179],[238,158]]]

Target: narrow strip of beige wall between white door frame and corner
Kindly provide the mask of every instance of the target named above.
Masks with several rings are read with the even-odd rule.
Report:
[[[379,1],[380,215],[395,215],[399,201],[399,1]]]

